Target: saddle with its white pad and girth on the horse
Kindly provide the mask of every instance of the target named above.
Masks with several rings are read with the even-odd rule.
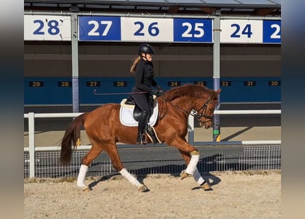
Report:
[[[158,139],[156,135],[156,131],[154,129],[154,125],[158,119],[158,102],[156,98],[150,100],[151,112],[153,114],[149,116],[149,121],[146,126],[147,136],[150,138],[151,142],[154,144],[160,143],[161,141]],[[126,126],[138,126],[138,120],[140,119],[142,114],[142,110],[134,99],[131,96],[128,96],[127,99],[123,99],[121,101],[121,109],[120,109],[120,120],[123,125]],[[132,117],[132,118],[130,118]]]

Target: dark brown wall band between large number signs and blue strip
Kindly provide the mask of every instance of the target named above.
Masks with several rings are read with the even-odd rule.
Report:
[[[80,77],[129,77],[138,44],[80,44]],[[212,44],[152,44],[156,77],[212,77]],[[71,77],[70,44],[24,47],[25,77]],[[221,45],[221,77],[280,77],[280,44]]]

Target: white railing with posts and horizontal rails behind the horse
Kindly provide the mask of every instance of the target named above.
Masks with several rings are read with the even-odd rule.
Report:
[[[215,114],[281,114],[281,110],[215,110]],[[35,118],[73,118],[83,113],[40,113],[29,112],[24,114],[28,119],[29,146],[24,151],[29,152],[29,177],[35,175],[35,152],[36,151],[59,151],[59,146],[35,146]],[[194,119],[188,118],[188,142],[194,143]],[[241,142],[203,142],[204,144],[281,144],[281,140],[272,141],[241,141]],[[78,146],[78,150],[88,150],[91,145]]]

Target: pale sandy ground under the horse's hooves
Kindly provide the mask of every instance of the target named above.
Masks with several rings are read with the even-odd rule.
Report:
[[[82,192],[75,179],[25,179],[24,218],[280,218],[280,171],[210,172],[213,191],[193,177],[138,177],[149,189],[114,176],[86,178]]]

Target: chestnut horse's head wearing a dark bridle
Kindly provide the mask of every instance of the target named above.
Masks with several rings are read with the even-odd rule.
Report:
[[[208,99],[198,99],[195,101],[197,120],[199,121],[200,127],[208,129],[212,126],[212,118],[214,115],[215,107],[218,103],[218,94],[221,89],[214,91],[208,96]]]

